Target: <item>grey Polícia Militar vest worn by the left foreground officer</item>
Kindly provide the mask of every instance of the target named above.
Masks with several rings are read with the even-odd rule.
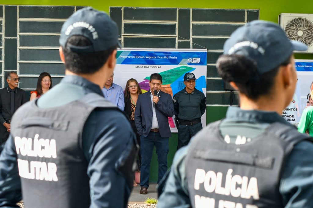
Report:
[[[19,108],[11,124],[25,207],[90,207],[82,130],[95,108],[116,106],[95,93],[55,108],[35,102]]]

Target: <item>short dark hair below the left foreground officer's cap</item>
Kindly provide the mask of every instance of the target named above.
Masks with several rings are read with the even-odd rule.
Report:
[[[91,44],[88,38],[81,35],[70,37],[68,43],[74,46],[89,46]],[[105,64],[116,47],[90,53],[76,53],[66,47],[62,47],[62,49],[67,70],[75,74],[93,74]]]

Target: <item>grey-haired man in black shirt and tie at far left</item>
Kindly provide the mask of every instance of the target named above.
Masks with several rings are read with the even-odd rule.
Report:
[[[0,90],[0,145],[7,141],[13,113],[25,102],[26,93],[18,88],[19,77],[16,72],[6,75],[8,87]]]

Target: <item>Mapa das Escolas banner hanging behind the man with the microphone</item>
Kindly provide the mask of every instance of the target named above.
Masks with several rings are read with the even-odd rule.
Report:
[[[144,93],[150,90],[150,75],[159,73],[163,82],[161,90],[173,96],[185,87],[183,77],[187,72],[195,74],[196,88],[206,96],[206,49],[127,48],[117,51],[113,82],[125,90],[127,80],[134,78]],[[169,118],[169,126],[171,132],[177,132],[173,118]],[[206,113],[203,114],[201,120],[204,127]]]

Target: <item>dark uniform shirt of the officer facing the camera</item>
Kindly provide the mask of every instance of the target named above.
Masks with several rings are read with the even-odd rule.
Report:
[[[201,118],[206,109],[206,101],[203,92],[196,88],[188,93],[186,88],[173,96],[174,114],[179,119],[195,120]]]

